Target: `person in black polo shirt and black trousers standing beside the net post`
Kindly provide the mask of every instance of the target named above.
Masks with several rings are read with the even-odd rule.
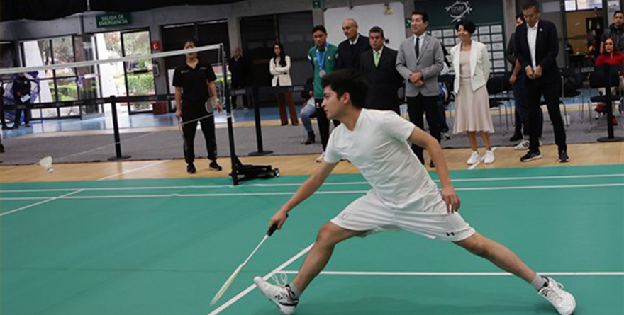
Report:
[[[184,44],[184,49],[194,48],[192,41]],[[197,121],[201,123],[201,132],[204,132],[206,149],[212,171],[221,171],[223,168],[217,164],[217,143],[215,137],[214,115],[208,110],[214,110],[213,104],[221,112],[221,104],[218,102],[215,85],[216,76],[210,64],[199,62],[197,52],[186,54],[184,66],[178,67],[173,74],[173,86],[176,87],[176,117],[182,118],[182,132],[184,133],[184,160],[186,172],[196,173],[195,169],[195,132]],[[210,91],[208,92],[208,89]],[[209,98],[209,99],[208,99]],[[208,109],[206,109],[208,102]]]

